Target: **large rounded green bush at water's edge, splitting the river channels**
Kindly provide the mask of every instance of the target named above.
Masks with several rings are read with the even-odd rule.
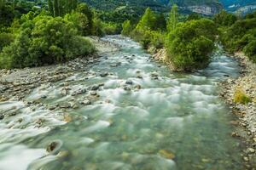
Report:
[[[177,26],[166,39],[167,59],[177,71],[194,71],[210,61],[217,34],[212,20],[190,20]]]

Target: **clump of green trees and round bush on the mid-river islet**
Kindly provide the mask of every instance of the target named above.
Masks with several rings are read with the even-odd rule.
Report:
[[[150,52],[166,48],[167,59],[176,71],[193,71],[206,66],[218,33],[214,22],[201,19],[197,14],[191,14],[181,22],[177,5],[173,5],[167,19],[161,15],[161,22],[157,19],[160,15],[147,8],[135,28],[130,20],[126,20],[122,33],[141,42]]]

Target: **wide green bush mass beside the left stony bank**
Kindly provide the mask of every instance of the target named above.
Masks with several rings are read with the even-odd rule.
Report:
[[[3,48],[1,68],[50,65],[94,51],[89,41],[79,37],[73,23],[61,17],[38,15],[27,19],[20,30],[15,42]]]

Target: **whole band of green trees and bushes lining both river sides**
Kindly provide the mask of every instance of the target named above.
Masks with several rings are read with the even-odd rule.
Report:
[[[147,8],[137,20],[140,14],[108,13],[75,0],[49,1],[42,8],[2,0],[0,8],[1,68],[65,62],[94,52],[84,37],[120,32],[144,48],[166,48],[168,60],[177,70],[205,67],[217,41],[230,53],[244,51],[255,61],[255,13],[237,17],[221,11],[205,18],[179,14],[178,6],[173,5],[169,14]]]

